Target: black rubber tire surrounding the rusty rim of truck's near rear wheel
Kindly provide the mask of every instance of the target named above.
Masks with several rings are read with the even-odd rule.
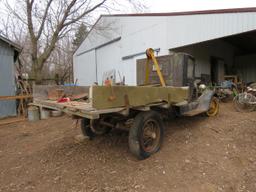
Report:
[[[142,144],[140,143],[140,137],[143,134],[143,125],[149,119],[154,119],[160,128],[160,139],[158,147],[151,152],[146,152],[142,148]],[[129,131],[129,148],[133,155],[135,155],[138,159],[146,159],[150,157],[152,154],[158,152],[161,148],[163,142],[163,135],[164,135],[164,125],[163,120],[161,119],[160,115],[155,111],[148,111],[148,112],[141,112],[139,113],[134,120],[133,126],[130,128]]]

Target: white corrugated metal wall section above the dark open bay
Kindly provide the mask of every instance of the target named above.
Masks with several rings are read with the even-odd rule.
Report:
[[[171,16],[167,46],[176,48],[256,29],[256,12]]]

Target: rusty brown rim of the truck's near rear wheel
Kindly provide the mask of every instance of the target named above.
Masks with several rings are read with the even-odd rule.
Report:
[[[144,151],[153,152],[155,151],[160,142],[160,127],[155,120],[148,120],[145,122],[141,137],[141,145]]]

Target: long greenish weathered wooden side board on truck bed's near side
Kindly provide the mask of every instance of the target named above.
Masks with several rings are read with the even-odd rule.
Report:
[[[189,97],[188,87],[93,86],[92,107],[140,107],[153,103],[179,103]]]

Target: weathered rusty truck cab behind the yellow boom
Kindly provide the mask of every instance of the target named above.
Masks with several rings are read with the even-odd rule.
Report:
[[[165,84],[182,87],[192,84],[195,76],[194,58],[185,53],[175,53],[155,58]],[[154,63],[148,59],[137,60],[137,84],[161,84]],[[146,63],[146,65],[145,65]],[[190,71],[191,70],[191,71]],[[146,74],[146,77],[145,75]],[[145,77],[145,78],[144,78]]]

